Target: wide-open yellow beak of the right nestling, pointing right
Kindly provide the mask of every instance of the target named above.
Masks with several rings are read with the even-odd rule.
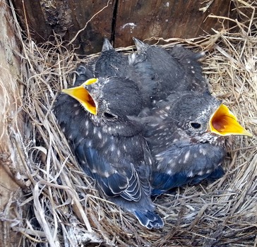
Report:
[[[217,135],[253,135],[239,124],[237,117],[229,109],[221,104],[220,107],[210,117],[209,128],[212,133]]]

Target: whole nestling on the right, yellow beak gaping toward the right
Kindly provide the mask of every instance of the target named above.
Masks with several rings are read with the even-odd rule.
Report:
[[[220,178],[227,137],[252,136],[208,92],[173,92],[140,121],[155,160],[150,179],[153,195]]]

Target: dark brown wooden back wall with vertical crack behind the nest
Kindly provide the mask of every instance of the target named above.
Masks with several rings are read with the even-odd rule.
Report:
[[[14,0],[13,4],[20,25],[29,28],[37,42],[49,40],[53,32],[71,41],[81,30],[73,41],[81,54],[100,52],[103,37],[114,47],[130,46],[132,37],[192,38],[228,27],[227,21],[217,22],[210,14],[238,18],[235,4],[227,0]]]

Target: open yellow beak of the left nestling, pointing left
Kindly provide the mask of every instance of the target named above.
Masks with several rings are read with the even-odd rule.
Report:
[[[74,99],[78,100],[80,104],[91,114],[96,115],[97,114],[97,105],[95,104],[95,101],[90,96],[90,93],[88,90],[84,88],[84,85],[90,85],[92,83],[96,83],[96,78],[91,78],[89,80],[86,80],[85,83],[81,84],[80,86],[76,88],[68,88],[64,89],[61,92],[66,93],[67,95],[70,95]]]

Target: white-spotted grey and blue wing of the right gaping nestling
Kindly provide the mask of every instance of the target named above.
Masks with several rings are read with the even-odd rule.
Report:
[[[187,155],[185,158],[189,152],[191,155]],[[152,195],[164,193],[187,183],[200,183],[203,179],[219,179],[224,174],[220,166],[225,157],[223,147],[208,143],[184,147],[172,146],[159,154],[159,156],[162,155],[157,169],[153,171],[151,176],[151,185],[154,188]],[[184,162],[185,160],[186,162]]]

